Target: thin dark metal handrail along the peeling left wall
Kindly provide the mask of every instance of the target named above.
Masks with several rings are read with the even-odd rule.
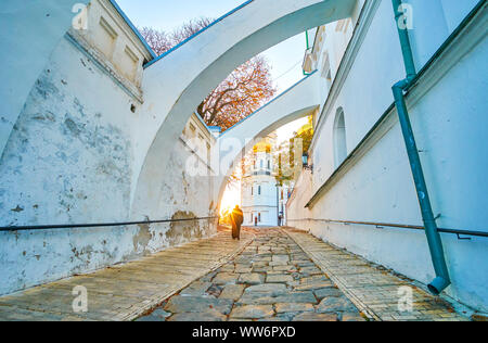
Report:
[[[144,221],[125,221],[125,223],[100,223],[100,224],[63,224],[63,225],[30,225],[30,226],[5,226],[0,227],[0,232],[4,231],[27,231],[27,230],[51,230],[51,229],[88,229],[88,228],[101,228],[101,227],[119,227],[130,225],[147,225],[147,224],[164,224],[164,223],[178,223],[178,221],[195,221],[195,220],[208,220],[217,219],[215,217],[200,217],[200,218],[185,218],[185,219],[163,219],[163,220],[144,220]]]

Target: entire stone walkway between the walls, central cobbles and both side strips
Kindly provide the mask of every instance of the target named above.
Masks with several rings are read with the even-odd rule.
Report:
[[[88,312],[73,312],[76,285]],[[399,312],[398,290],[412,291]],[[155,310],[153,310],[155,308]],[[458,308],[458,307],[457,307]],[[143,315],[142,317],[140,317]],[[293,229],[228,230],[0,297],[0,320],[467,320],[385,268]]]

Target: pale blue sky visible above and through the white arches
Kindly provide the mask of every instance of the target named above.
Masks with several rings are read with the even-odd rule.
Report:
[[[137,27],[147,26],[166,31],[171,31],[192,18],[218,18],[243,2],[244,0],[117,0]],[[264,52],[271,65],[271,77],[278,93],[304,77],[301,62],[305,49],[305,34],[300,34]],[[287,139],[306,123],[306,119],[299,120],[279,129],[278,139]]]

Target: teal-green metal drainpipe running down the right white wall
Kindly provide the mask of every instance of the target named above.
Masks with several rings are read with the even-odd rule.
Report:
[[[434,217],[434,213],[432,209],[431,199],[428,196],[427,191],[427,185],[425,182],[424,172],[422,169],[422,163],[419,156],[415,137],[413,135],[409,112],[404,101],[404,89],[407,89],[407,87],[416,76],[412,48],[410,45],[408,29],[407,28],[402,29],[398,25],[399,20],[403,15],[403,13],[400,11],[401,0],[391,0],[391,1],[395,11],[396,25],[398,27],[398,35],[400,37],[400,45],[403,54],[404,67],[407,71],[407,78],[404,80],[399,81],[393,87],[393,93],[395,97],[395,104],[400,120],[401,131],[407,147],[407,153],[409,155],[410,167],[415,182],[416,194],[422,211],[422,219],[425,226],[425,234],[427,236],[432,262],[434,265],[434,270],[436,272],[436,278],[428,284],[428,290],[433,294],[438,295],[449,284],[451,284],[451,280],[449,278],[449,271],[444,255],[442,241],[440,239],[440,234],[437,229],[436,218]]]

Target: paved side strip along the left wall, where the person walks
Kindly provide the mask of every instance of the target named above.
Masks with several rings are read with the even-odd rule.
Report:
[[[207,240],[0,297],[2,320],[132,320],[190,282],[220,267],[254,238],[233,241],[229,231]],[[88,291],[88,312],[75,314],[73,289]]]

